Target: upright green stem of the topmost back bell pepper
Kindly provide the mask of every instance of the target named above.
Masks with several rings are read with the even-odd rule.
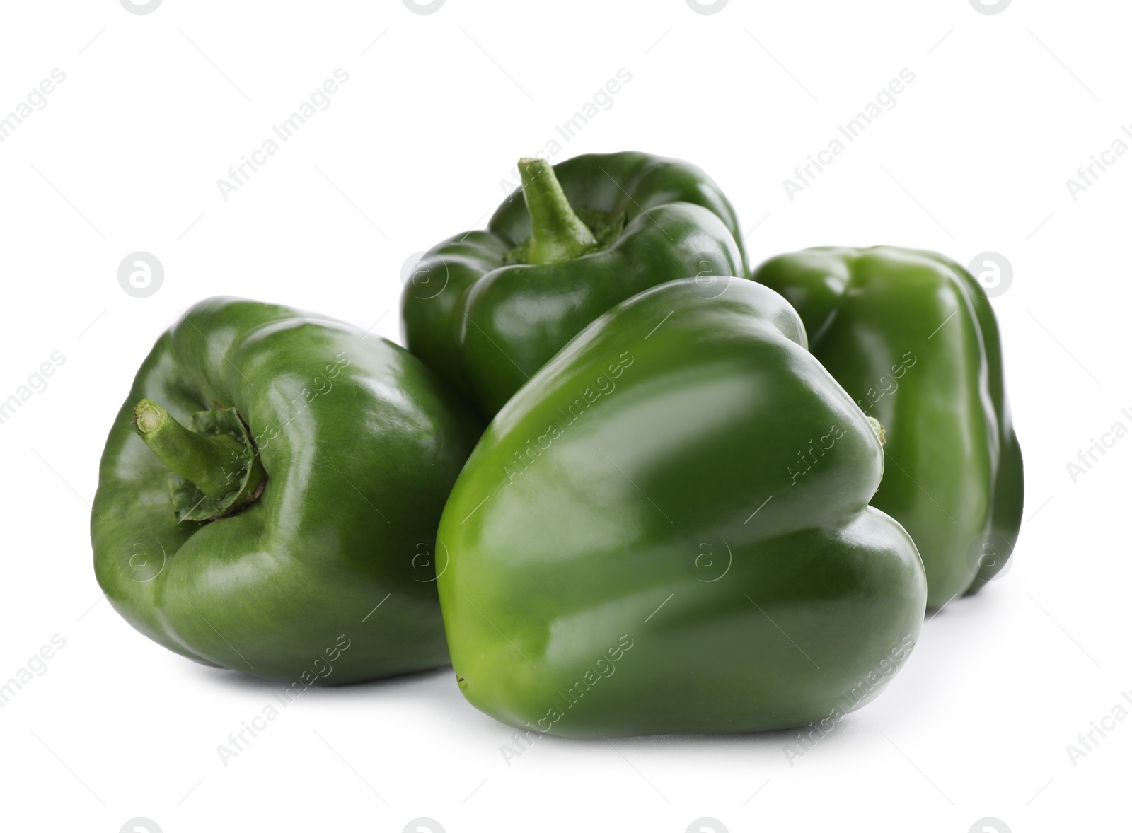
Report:
[[[518,175],[523,180],[523,199],[531,215],[528,263],[573,260],[598,246],[593,232],[571,207],[549,162],[538,157],[521,158]]]

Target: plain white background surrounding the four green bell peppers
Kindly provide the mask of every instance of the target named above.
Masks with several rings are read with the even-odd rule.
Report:
[[[1075,766],[1065,747],[1132,688],[1132,439],[1075,483],[1066,463],[1132,427],[1132,154],[1077,200],[1065,181],[1132,123],[1130,23],[1116,0],[6,3],[0,114],[52,69],[66,81],[0,144],[0,398],[52,352],[66,363],[0,424],[0,680],[53,634],[66,647],[0,710],[0,827],[1113,828],[1132,720]],[[337,68],[332,105],[225,200],[217,179]],[[932,619],[887,692],[794,765],[787,732],[542,738],[508,766],[511,731],[441,669],[309,692],[225,767],[216,746],[273,688],[148,642],[94,581],[88,505],[137,366],[213,294],[398,340],[406,258],[481,226],[515,160],[620,68],[632,80],[554,158],[700,164],[755,264],[882,242],[1011,261],[994,307],[1026,458],[1013,568]],[[789,199],[783,179],[903,68],[898,105]],[[117,276],[137,250],[165,268],[145,299]]]

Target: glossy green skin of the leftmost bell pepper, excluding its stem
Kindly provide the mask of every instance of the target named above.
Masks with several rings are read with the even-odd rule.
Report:
[[[174,516],[170,470],[131,424],[234,407],[263,493]],[[149,407],[146,405],[145,407]],[[479,424],[410,353],[345,324],[216,298],[146,358],[114,420],[91,516],[114,609],[170,651],[299,685],[448,662],[431,551]]]

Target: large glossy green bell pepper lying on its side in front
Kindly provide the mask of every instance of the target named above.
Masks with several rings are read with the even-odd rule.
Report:
[[[883,467],[765,286],[683,280],[615,307],[496,415],[445,506],[464,696],[567,737],[835,720],[924,617],[916,546],[868,506]]]

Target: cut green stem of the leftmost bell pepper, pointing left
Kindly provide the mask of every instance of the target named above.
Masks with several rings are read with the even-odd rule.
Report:
[[[134,426],[157,460],[205,495],[220,497],[240,486],[242,448],[234,437],[195,433],[149,400],[134,407]]]

